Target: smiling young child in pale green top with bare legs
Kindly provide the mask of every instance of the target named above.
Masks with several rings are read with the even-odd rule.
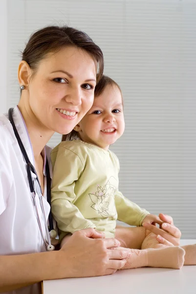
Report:
[[[119,161],[109,146],[122,136],[124,128],[120,87],[103,75],[95,88],[91,109],[51,152],[51,207],[61,240],[66,234],[88,227],[103,231],[106,238],[115,237],[117,219],[134,226],[162,223],[118,191]],[[127,247],[123,238],[119,241]],[[194,251],[196,255],[196,246],[183,248],[159,244],[156,236],[146,230],[143,250],[127,248],[131,255],[124,269],[180,269],[183,264],[196,263],[191,256]]]

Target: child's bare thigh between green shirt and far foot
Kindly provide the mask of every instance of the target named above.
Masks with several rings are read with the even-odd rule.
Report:
[[[121,243],[121,247],[141,249],[142,242],[146,237],[146,229],[140,227],[116,226],[115,238]]]

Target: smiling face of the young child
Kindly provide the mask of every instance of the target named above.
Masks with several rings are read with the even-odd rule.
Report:
[[[81,139],[108,150],[125,129],[122,96],[115,86],[108,85],[94,98],[91,109],[77,125]]]

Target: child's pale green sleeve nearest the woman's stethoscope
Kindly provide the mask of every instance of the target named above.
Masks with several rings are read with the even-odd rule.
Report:
[[[77,199],[75,183],[83,170],[84,164],[80,157],[72,150],[60,146],[54,163],[51,208],[59,229],[72,234],[84,228],[95,228],[73,204]]]

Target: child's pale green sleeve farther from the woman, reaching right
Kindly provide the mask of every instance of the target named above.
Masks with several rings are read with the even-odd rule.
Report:
[[[130,225],[141,226],[143,219],[149,214],[146,209],[140,208],[119,191],[115,194],[115,205],[118,220]]]

